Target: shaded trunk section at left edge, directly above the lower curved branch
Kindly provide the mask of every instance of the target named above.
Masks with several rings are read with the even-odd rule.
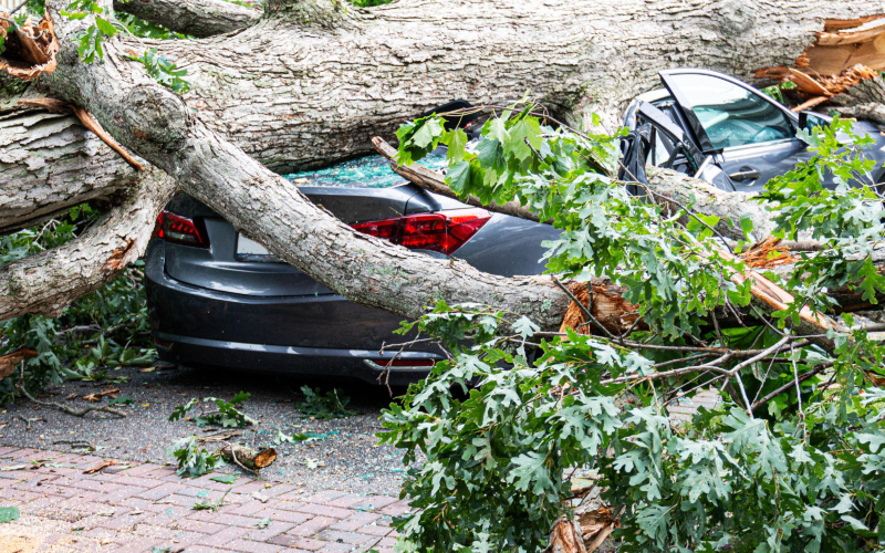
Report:
[[[135,171],[73,115],[0,109],[0,232],[131,186]]]

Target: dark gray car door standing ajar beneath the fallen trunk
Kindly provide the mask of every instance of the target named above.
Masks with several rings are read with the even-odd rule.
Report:
[[[810,157],[796,137],[798,117],[752,86],[715,71],[679,69],[659,75],[687,132],[736,190],[761,191],[769,179]]]

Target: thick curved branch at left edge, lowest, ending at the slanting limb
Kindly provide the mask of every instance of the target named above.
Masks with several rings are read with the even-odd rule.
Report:
[[[147,247],[173,182],[156,169],[139,174],[125,199],[77,240],[0,265],[0,321],[25,313],[58,316],[97,290]]]

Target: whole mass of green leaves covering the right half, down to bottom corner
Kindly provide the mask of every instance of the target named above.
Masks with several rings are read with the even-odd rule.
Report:
[[[448,145],[454,189],[519,199],[550,219],[563,234],[548,244],[549,271],[605,274],[650,328],[541,334],[513,313],[442,302],[404,324],[452,359],[384,414],[379,437],[404,451],[403,495],[417,508],[397,522],[398,550],[541,551],[571,509],[569,474],[582,469],[621,510],[618,551],[883,551],[885,392],[864,378],[885,373],[885,349],[862,330],[831,333],[830,351],[791,335],[799,306],[831,305],[834,283],[854,282],[871,301],[885,291],[866,243],[882,240],[882,200],[848,186],[871,169],[858,156],[865,140],[846,142],[851,128],[836,121],[805,136],[808,164],[768,185],[760,199],[778,233],[806,231],[834,252],[806,255],[795,271],[806,276],[782,283],[799,301],[774,314],[779,325],[722,330],[712,310],[750,296],[730,279],[742,263],[718,253],[718,221],[627,195],[608,176],[611,139],[545,125],[537,112],[513,106],[476,144],[419,119],[398,133],[399,160]],[[821,186],[825,174],[841,179],[835,190]],[[712,385],[721,407],[675,427],[670,407]]]

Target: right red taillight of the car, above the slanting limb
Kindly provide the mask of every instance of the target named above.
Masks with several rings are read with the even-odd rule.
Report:
[[[482,228],[491,213],[485,209],[457,209],[438,213],[417,213],[383,221],[354,225],[354,230],[384,238],[415,250],[451,255]]]

